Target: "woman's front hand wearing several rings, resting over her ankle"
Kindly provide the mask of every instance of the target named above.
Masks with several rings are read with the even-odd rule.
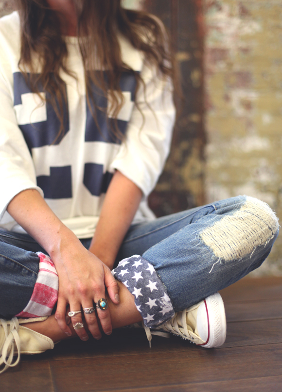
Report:
[[[115,304],[119,303],[119,287],[109,268],[83,245],[68,246],[52,259],[59,276],[59,296],[55,317],[60,328],[67,335],[71,334],[71,329],[65,320],[68,304],[71,311],[91,308],[93,302],[95,304],[99,299],[106,297],[105,287],[110,299]],[[109,310],[98,308],[97,315],[103,331],[110,335],[112,326]],[[92,336],[100,339],[101,331],[96,313],[84,314],[84,318]],[[71,323],[73,326],[76,323],[83,323],[82,313],[72,316]],[[85,328],[76,329],[76,333],[82,340],[88,340]]]

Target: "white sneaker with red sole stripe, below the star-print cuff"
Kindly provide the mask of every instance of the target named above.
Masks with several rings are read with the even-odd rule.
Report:
[[[203,347],[221,346],[226,338],[222,298],[219,293],[212,294],[190,308],[177,312],[171,320],[154,330],[148,327],[144,329],[149,342],[152,335],[163,336],[163,332],[171,332]]]

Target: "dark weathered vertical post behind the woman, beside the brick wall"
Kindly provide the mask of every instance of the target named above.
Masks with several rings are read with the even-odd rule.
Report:
[[[145,0],[171,33],[184,94],[171,154],[149,204],[158,215],[204,204],[204,28],[202,0]]]

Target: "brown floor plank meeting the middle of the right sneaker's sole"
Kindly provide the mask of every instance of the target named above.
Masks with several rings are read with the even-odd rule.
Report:
[[[226,302],[227,322],[275,319],[282,317],[282,299],[259,302]]]

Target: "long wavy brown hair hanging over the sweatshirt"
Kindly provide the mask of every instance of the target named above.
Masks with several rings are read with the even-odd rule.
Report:
[[[59,137],[64,132],[62,113],[67,99],[65,84],[59,71],[63,70],[75,77],[67,68],[68,49],[62,35],[62,26],[46,0],[15,1],[21,26],[19,68],[30,83],[32,91],[39,94],[41,86],[47,94],[49,93],[48,96],[51,97],[54,110],[61,122],[57,136]],[[137,89],[143,83],[140,74],[123,62],[117,32],[134,48],[141,50],[145,59],[156,67],[160,75],[176,81],[174,56],[163,26],[157,18],[143,11],[124,9],[121,0],[73,2],[77,13],[77,36],[85,70],[88,106],[91,110],[92,103],[92,115],[96,122],[95,111],[100,108],[95,104],[91,93],[93,83],[105,96],[109,96],[109,109],[113,118],[117,118],[123,106],[123,94],[119,84],[122,72],[131,72],[135,76]],[[39,59],[40,73],[36,73],[34,56]],[[106,72],[106,82],[103,70],[95,70],[97,59],[101,65],[99,69]],[[122,139],[117,122],[111,131]]]

